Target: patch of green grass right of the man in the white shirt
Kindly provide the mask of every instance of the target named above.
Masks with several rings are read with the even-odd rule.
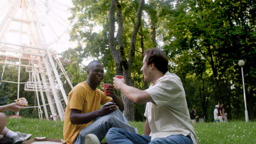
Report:
[[[199,143],[243,143],[256,142],[256,122],[196,123]]]

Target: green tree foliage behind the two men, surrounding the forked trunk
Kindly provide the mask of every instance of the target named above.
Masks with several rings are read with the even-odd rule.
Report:
[[[125,56],[129,55],[132,28],[138,1],[119,1],[123,15]],[[140,37],[137,37],[132,62],[133,86],[143,89],[142,52],[157,45],[170,59],[170,71],[181,77],[188,107],[197,107],[202,117],[212,121],[212,106],[224,103],[231,118],[244,111],[241,71],[237,62],[244,59],[247,98],[251,115],[255,112],[255,2],[254,1],[148,1],[144,5]],[[73,1],[71,38],[78,41],[81,58],[94,57],[106,65],[104,82],[111,83],[115,73],[108,50],[108,9],[110,1]],[[153,22],[155,25],[153,26]],[[94,26],[102,31],[95,33]],[[116,43],[118,44],[118,43]],[[118,45],[117,45],[118,46]],[[117,48],[118,49],[118,48]],[[79,63],[80,64],[80,63]],[[73,71],[73,70],[71,70]],[[146,86],[147,87],[147,86]],[[135,106],[136,112],[143,106]],[[136,117],[143,119],[143,112]],[[256,114],[254,114],[256,115]],[[252,117],[253,118],[253,117]]]

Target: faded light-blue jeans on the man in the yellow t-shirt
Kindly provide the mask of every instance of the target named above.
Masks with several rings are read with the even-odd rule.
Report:
[[[133,133],[138,133],[137,128],[132,127],[124,117],[123,113],[118,109],[106,116],[96,118],[94,122],[88,125],[88,127],[82,129],[77,136],[77,139],[75,139],[74,144],[85,143],[85,136],[88,134],[95,134],[98,139],[102,141],[108,130],[112,127],[122,128]]]

